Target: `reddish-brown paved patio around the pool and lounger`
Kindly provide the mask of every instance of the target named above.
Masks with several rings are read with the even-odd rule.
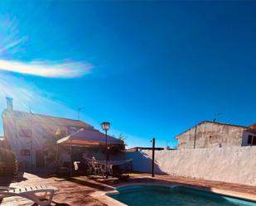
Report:
[[[226,194],[235,194],[249,199],[256,200],[256,186],[246,186],[241,184],[228,184],[224,182],[195,180],[183,177],[173,177],[170,175],[156,175],[154,179],[150,175],[142,174],[131,178],[128,181],[121,181],[114,178],[105,180],[103,178],[94,179],[88,177],[74,177],[71,179],[60,179],[49,177],[46,175],[32,175],[26,173],[22,180],[11,181],[7,178],[0,178],[0,185],[10,185],[13,187],[23,185],[53,185],[60,190],[56,193],[52,205],[69,206],[69,205],[88,205],[88,206],[106,206],[100,199],[95,199],[92,196],[95,192],[112,190],[113,186],[120,184],[133,183],[162,183],[162,184],[186,184],[187,186],[200,187],[203,189],[212,190],[218,193],[225,192]],[[36,205],[31,201],[22,198],[7,198],[0,199],[0,204],[3,206],[28,206]]]

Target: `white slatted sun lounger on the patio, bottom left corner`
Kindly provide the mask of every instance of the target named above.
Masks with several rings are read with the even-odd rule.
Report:
[[[27,187],[2,187],[0,186],[0,199],[19,196],[22,198],[30,199],[38,205],[50,205],[53,194],[58,189],[53,186],[27,186]],[[38,195],[38,193],[43,193],[43,195]]]

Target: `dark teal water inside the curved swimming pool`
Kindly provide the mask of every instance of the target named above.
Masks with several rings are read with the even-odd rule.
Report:
[[[109,196],[129,206],[256,206],[256,202],[184,187],[133,185],[118,192]]]

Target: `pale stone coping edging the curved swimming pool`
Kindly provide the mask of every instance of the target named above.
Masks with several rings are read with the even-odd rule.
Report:
[[[119,202],[118,200],[109,197],[109,194],[119,194],[119,192],[118,192],[119,188],[122,188],[125,186],[133,186],[133,185],[165,186],[165,187],[169,187],[169,188],[184,187],[184,188],[188,188],[188,189],[197,189],[197,190],[204,191],[204,192],[212,192],[214,194],[226,195],[231,198],[244,199],[244,200],[256,202],[256,195],[254,195],[254,194],[245,194],[245,193],[240,193],[240,192],[234,192],[232,190],[216,189],[216,188],[204,189],[203,187],[200,187],[197,185],[187,185],[187,184],[182,184],[182,183],[162,183],[162,182],[121,183],[121,184],[116,184],[115,186],[110,187],[113,189],[111,191],[96,191],[93,194],[91,194],[91,196],[107,205],[128,206],[127,204],[123,204],[123,203]],[[108,185],[108,187],[109,187],[109,185]]]

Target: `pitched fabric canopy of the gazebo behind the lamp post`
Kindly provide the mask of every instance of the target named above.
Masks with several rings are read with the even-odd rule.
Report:
[[[123,145],[123,141],[108,136],[108,146]],[[80,129],[78,132],[63,137],[57,141],[57,144],[65,146],[100,146],[106,144],[105,134],[98,130]]]

